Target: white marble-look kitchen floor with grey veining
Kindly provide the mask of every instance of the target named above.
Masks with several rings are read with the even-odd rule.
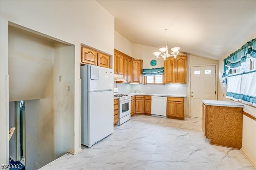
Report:
[[[100,127],[99,127],[100,128]],[[41,170],[254,170],[240,150],[209,144],[201,119],[133,116],[102,141]]]

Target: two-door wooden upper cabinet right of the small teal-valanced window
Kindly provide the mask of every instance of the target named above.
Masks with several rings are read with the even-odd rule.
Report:
[[[165,83],[186,83],[187,55],[169,57],[164,62]]]

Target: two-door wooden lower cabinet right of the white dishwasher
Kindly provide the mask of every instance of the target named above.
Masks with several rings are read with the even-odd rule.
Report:
[[[167,118],[184,120],[184,98],[167,97]]]

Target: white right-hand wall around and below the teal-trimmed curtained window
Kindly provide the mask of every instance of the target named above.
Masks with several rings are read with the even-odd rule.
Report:
[[[245,42],[241,42],[240,46],[234,48],[233,51],[230,51],[225,57],[219,60],[219,73],[218,73],[218,100],[230,101],[230,99],[226,98],[226,88],[222,85],[222,74],[224,69],[224,59],[233,53],[234,51],[238,50],[242,45],[246,42],[255,38],[256,35],[253,35],[250,39],[246,40]],[[239,103],[241,104],[241,103]],[[244,104],[242,104],[244,105]],[[254,115],[256,117],[256,108],[251,107],[249,105],[244,105],[244,111]],[[243,140],[242,140],[242,148],[246,155],[250,158],[250,160],[256,166],[256,121],[252,120],[251,118],[243,115]]]

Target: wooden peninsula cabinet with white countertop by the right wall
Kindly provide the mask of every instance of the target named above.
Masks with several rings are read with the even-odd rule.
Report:
[[[202,130],[210,144],[242,147],[243,107],[232,101],[203,100]]]

